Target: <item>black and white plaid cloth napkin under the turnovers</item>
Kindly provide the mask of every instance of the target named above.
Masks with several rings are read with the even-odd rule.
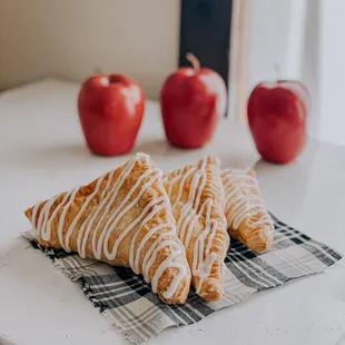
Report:
[[[47,249],[32,235],[26,237],[40,248],[70,279],[80,284],[85,295],[125,337],[139,344],[170,326],[189,325],[207,315],[239,303],[254,293],[288,280],[323,272],[342,255],[324,244],[279,221],[275,223],[274,245],[268,253],[256,254],[237,240],[225,259],[225,294],[220,302],[203,302],[193,290],[185,305],[166,305],[151,292],[141,276],[129,268],[111,267],[78,254]]]

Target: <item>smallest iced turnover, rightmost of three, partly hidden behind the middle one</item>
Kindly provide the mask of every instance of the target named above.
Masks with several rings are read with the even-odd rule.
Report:
[[[255,171],[224,169],[221,180],[229,235],[249,249],[268,250],[273,243],[274,225],[260,198]]]

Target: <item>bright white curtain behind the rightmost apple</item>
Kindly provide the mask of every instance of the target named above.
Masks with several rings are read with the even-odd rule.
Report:
[[[248,37],[248,91],[279,65],[309,89],[309,135],[334,145],[345,145],[344,13],[343,0],[252,0]]]

